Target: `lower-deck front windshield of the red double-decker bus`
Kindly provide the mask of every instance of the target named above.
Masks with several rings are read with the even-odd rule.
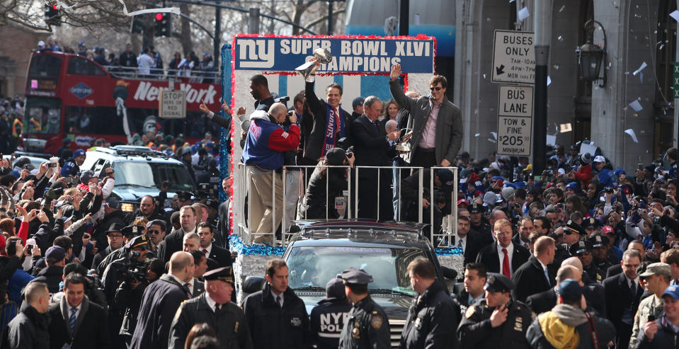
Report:
[[[23,132],[55,135],[61,126],[61,101],[57,98],[26,99]]]

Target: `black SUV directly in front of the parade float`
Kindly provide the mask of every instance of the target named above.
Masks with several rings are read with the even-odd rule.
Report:
[[[434,248],[422,231],[424,224],[378,223],[363,220],[297,221],[283,259],[290,270],[290,288],[304,300],[307,313],[325,298],[326,283],[350,267],[372,275],[368,292],[389,317],[392,348],[399,347],[408,309],[416,292],[408,264],[423,257],[434,263],[438,280],[444,280]],[[454,271],[445,275],[455,280]],[[246,282],[247,283],[247,282]],[[447,289],[447,282],[442,282]]]

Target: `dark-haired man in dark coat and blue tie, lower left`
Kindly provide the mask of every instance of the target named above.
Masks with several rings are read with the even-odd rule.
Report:
[[[108,319],[104,309],[85,296],[85,278],[70,273],[64,279],[64,297],[47,309],[50,325],[50,348],[108,348]]]

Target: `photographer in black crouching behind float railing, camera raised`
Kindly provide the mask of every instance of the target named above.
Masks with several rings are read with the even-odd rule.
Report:
[[[344,191],[348,189],[349,168],[323,166],[350,166],[353,168],[355,157],[352,151],[341,148],[330,149],[321,166],[312,173],[304,205],[299,212],[299,219],[339,218],[343,217],[348,205]],[[327,190],[327,191],[326,191]],[[341,207],[338,209],[338,207]],[[341,211],[341,212],[340,212]]]

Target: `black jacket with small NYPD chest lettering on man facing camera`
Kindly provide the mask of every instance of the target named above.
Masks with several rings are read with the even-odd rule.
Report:
[[[255,349],[309,348],[309,315],[290,287],[283,292],[283,307],[276,304],[266,284],[245,299],[243,310]]]

